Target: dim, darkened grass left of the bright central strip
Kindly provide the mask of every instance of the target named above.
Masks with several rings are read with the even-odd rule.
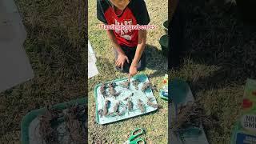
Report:
[[[15,2],[35,77],[0,94],[0,143],[20,143],[20,122],[30,110],[86,95],[85,14],[82,8],[79,20],[78,1]]]

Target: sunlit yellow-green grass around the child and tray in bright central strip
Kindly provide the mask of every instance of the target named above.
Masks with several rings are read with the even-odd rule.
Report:
[[[161,88],[160,83],[165,74],[167,74],[167,59],[162,56],[161,47],[158,39],[165,34],[162,30],[162,23],[167,18],[167,1],[154,2],[153,0],[146,1],[146,6],[150,14],[150,24],[157,27],[156,30],[148,30],[146,70],[139,74],[147,74],[150,81]],[[101,140],[107,143],[121,143],[125,142],[130,135],[130,131],[135,127],[146,128],[146,135],[143,137],[148,143],[166,143],[167,142],[167,125],[168,125],[168,107],[167,102],[159,98],[158,94],[154,96],[157,98],[158,104],[162,109],[154,114],[148,114],[138,118],[130,118],[122,122],[115,122],[106,126],[100,126],[95,122],[95,101],[94,101],[94,86],[101,82],[114,80],[116,78],[127,77],[127,74],[119,73],[114,70],[114,52],[112,44],[106,35],[105,30],[98,27],[100,22],[96,18],[96,1],[89,1],[89,22],[88,34],[91,45],[97,57],[97,66],[99,74],[91,78],[88,82],[89,89],[89,143]]]

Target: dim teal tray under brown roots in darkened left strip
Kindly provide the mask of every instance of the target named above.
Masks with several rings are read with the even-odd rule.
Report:
[[[68,105],[73,105],[73,104],[78,104],[78,105],[86,105],[86,98],[80,98],[80,99],[76,99],[70,102],[63,102],[63,103],[59,103],[53,106],[54,109],[57,110],[65,110],[67,108]],[[32,110],[30,111],[28,114],[26,114],[23,118],[22,118],[22,122],[21,122],[21,129],[22,129],[22,144],[40,144],[40,142],[38,142],[38,134],[35,134],[36,130],[31,131],[35,127],[35,125],[38,124],[38,115],[42,115],[45,114],[46,112],[46,108],[42,108],[42,109],[38,109],[38,110]],[[62,128],[62,123],[64,122],[64,118],[60,118],[58,120],[58,122],[55,122],[52,124],[52,126],[58,126],[60,128]],[[84,123],[86,124],[86,123]],[[37,138],[35,138],[37,137]],[[43,143],[43,142],[41,142]],[[43,143],[44,144],[44,143]]]

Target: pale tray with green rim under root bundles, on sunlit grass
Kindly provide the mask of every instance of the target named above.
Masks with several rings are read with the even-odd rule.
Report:
[[[133,81],[135,79],[138,79],[139,81],[141,81],[138,84],[138,90],[135,89],[135,86],[133,85]],[[120,92],[120,94],[118,95],[118,97],[114,98],[111,96],[106,97],[106,99],[110,100],[110,107],[108,109],[109,112],[114,111],[114,106],[117,102],[122,102],[122,106],[120,107],[120,111],[126,106],[126,101],[124,101],[124,99],[128,96],[130,96],[132,93],[134,93],[133,96],[130,97],[130,100],[133,102],[134,106],[133,106],[133,110],[129,111],[126,110],[126,113],[119,116],[100,116],[98,114],[98,110],[103,110],[103,107],[105,105],[105,99],[103,97],[103,95],[100,92],[100,88],[102,86],[102,84],[98,84],[97,86],[95,86],[94,89],[94,96],[95,96],[95,102],[96,102],[96,122],[98,124],[107,124],[107,123],[111,123],[111,122],[118,122],[121,120],[124,120],[126,118],[133,118],[136,117],[138,115],[142,115],[142,114],[147,114],[150,113],[154,110],[157,110],[158,108],[154,108],[151,106],[147,105],[147,99],[148,98],[152,98],[152,102],[154,104],[157,104],[156,98],[154,97],[153,91],[151,89],[148,89],[145,91],[145,93],[142,92],[142,86],[144,82],[149,82],[149,78],[147,78],[147,76],[145,74],[141,74],[141,75],[137,75],[134,78],[130,78],[130,89],[126,89],[123,88],[122,86],[119,86],[122,82],[127,81],[127,78],[120,78],[120,79],[116,79],[114,81],[110,81],[110,82],[115,82],[116,86],[115,86],[115,90],[117,92]],[[109,84],[110,82],[106,82],[105,84]],[[109,88],[106,89],[106,94],[109,95]],[[142,102],[144,103],[144,106],[146,108],[146,111],[144,113],[141,112],[141,110],[138,108],[137,103],[138,103],[138,99],[141,99]]]

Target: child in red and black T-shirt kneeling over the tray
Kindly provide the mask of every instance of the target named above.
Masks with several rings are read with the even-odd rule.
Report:
[[[97,0],[97,18],[106,25],[147,25],[150,22],[143,0]],[[106,30],[114,44],[115,66],[129,76],[146,66],[146,30]]]

